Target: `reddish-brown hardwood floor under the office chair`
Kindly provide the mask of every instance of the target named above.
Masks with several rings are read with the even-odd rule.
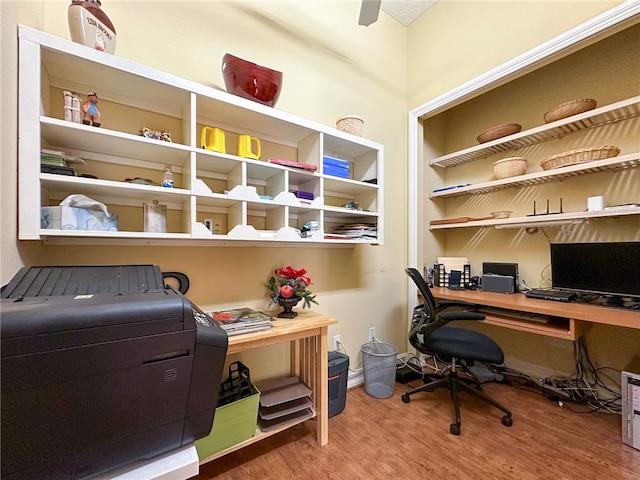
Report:
[[[412,384],[419,384],[412,382]],[[622,443],[619,415],[575,413],[504,384],[484,391],[513,413],[462,393],[462,434],[449,433],[453,408],[445,390],[378,399],[349,390],[344,411],[329,420],[329,444],[315,422],[281,432],[200,466],[197,480],[233,479],[582,479],[637,480],[640,450]],[[577,409],[575,405],[570,408]]]

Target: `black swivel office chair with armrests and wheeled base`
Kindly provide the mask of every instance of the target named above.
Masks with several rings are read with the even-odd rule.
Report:
[[[513,425],[511,412],[493,398],[486,395],[480,387],[480,382],[473,377],[459,376],[458,361],[470,366],[473,362],[485,362],[500,364],[504,361],[502,349],[491,338],[483,333],[467,328],[445,327],[444,325],[455,320],[484,320],[484,315],[468,310],[444,311],[451,307],[475,308],[476,306],[458,300],[443,300],[436,303],[427,283],[415,268],[405,269],[407,275],[415,282],[422,294],[423,304],[418,305],[413,312],[409,342],[419,352],[434,355],[442,361],[448,362],[448,373],[439,375],[435,379],[416,388],[408,390],[402,395],[402,401],[409,403],[410,396],[417,392],[431,392],[436,388],[448,388],[451,392],[456,421],[449,427],[454,435],[460,435],[460,405],[458,392],[468,392],[485,402],[502,410],[502,424],[510,427]],[[425,380],[426,381],[426,380]]]

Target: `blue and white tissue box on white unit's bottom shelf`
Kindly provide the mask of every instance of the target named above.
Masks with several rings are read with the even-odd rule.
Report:
[[[118,216],[77,207],[40,207],[40,228],[59,230],[118,231]]]

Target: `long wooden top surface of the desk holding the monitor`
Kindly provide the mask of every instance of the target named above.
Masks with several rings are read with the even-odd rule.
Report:
[[[434,297],[440,299],[465,300],[491,307],[640,329],[640,311],[638,310],[604,307],[586,303],[538,300],[527,298],[522,293],[506,294],[478,290],[450,290],[445,287],[434,287],[431,292]]]

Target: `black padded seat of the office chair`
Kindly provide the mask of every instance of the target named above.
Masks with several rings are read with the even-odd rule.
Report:
[[[429,351],[438,356],[500,364],[504,353],[484,333],[468,328],[440,327],[429,335]]]

